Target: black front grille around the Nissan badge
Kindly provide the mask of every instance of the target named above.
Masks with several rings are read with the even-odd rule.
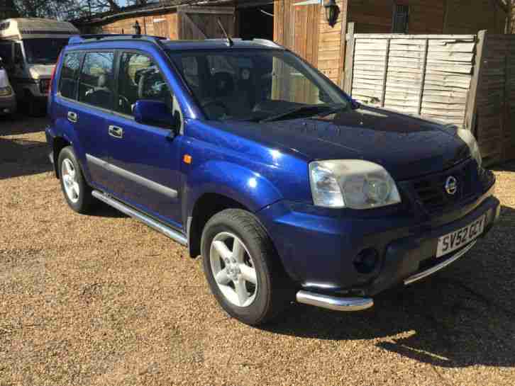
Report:
[[[455,194],[445,190],[445,182],[453,176],[458,181]],[[416,200],[428,212],[444,210],[475,195],[474,183],[477,181],[477,165],[469,159],[451,169],[411,181]]]

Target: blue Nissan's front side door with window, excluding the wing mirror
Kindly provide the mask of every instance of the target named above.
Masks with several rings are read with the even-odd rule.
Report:
[[[140,99],[174,103],[171,88],[151,55],[119,52],[115,113],[107,122],[109,162],[118,198],[157,219],[181,228],[179,157],[182,136],[170,129],[137,123],[133,106]]]

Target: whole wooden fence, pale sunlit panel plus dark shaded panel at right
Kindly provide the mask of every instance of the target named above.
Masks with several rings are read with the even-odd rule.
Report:
[[[345,91],[471,130],[484,164],[515,159],[515,35],[354,34]]]

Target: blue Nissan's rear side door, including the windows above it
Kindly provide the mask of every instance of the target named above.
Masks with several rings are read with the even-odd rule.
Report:
[[[74,147],[90,182],[108,192],[113,178],[107,167],[110,137],[105,127],[113,106],[113,63],[113,51],[68,52],[57,94],[60,125],[71,126],[77,136]]]

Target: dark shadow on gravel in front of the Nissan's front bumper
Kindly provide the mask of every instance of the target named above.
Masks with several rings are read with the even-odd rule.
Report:
[[[515,210],[453,265],[375,297],[358,313],[292,305],[266,329],[309,339],[370,340],[400,356],[446,368],[515,365]]]

